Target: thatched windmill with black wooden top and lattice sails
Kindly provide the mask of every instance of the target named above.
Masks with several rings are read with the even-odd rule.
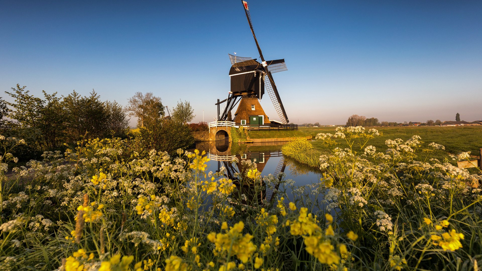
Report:
[[[229,70],[231,91],[228,93],[228,98],[222,101],[219,101],[218,99],[215,104],[218,108],[218,121],[228,120],[231,109],[240,103],[234,115],[234,122],[241,125],[253,123],[264,124],[265,121],[269,122],[268,116],[266,116],[258,101],[258,99],[261,100],[263,98],[266,89],[281,122],[287,124],[289,122],[288,116],[286,115],[286,111],[284,110],[283,103],[281,102],[278,93],[278,88],[276,87],[272,76],[272,73],[287,70],[286,64],[284,63],[284,59],[265,60],[256,39],[256,35],[254,35],[248,2],[242,1],[242,4],[246,18],[248,19],[249,27],[253,33],[254,42],[256,43],[261,62],[258,62],[256,58],[253,59],[251,57],[240,57],[229,54],[229,59],[231,61],[231,68]],[[226,102],[226,104],[221,110],[220,105],[224,102]]]

